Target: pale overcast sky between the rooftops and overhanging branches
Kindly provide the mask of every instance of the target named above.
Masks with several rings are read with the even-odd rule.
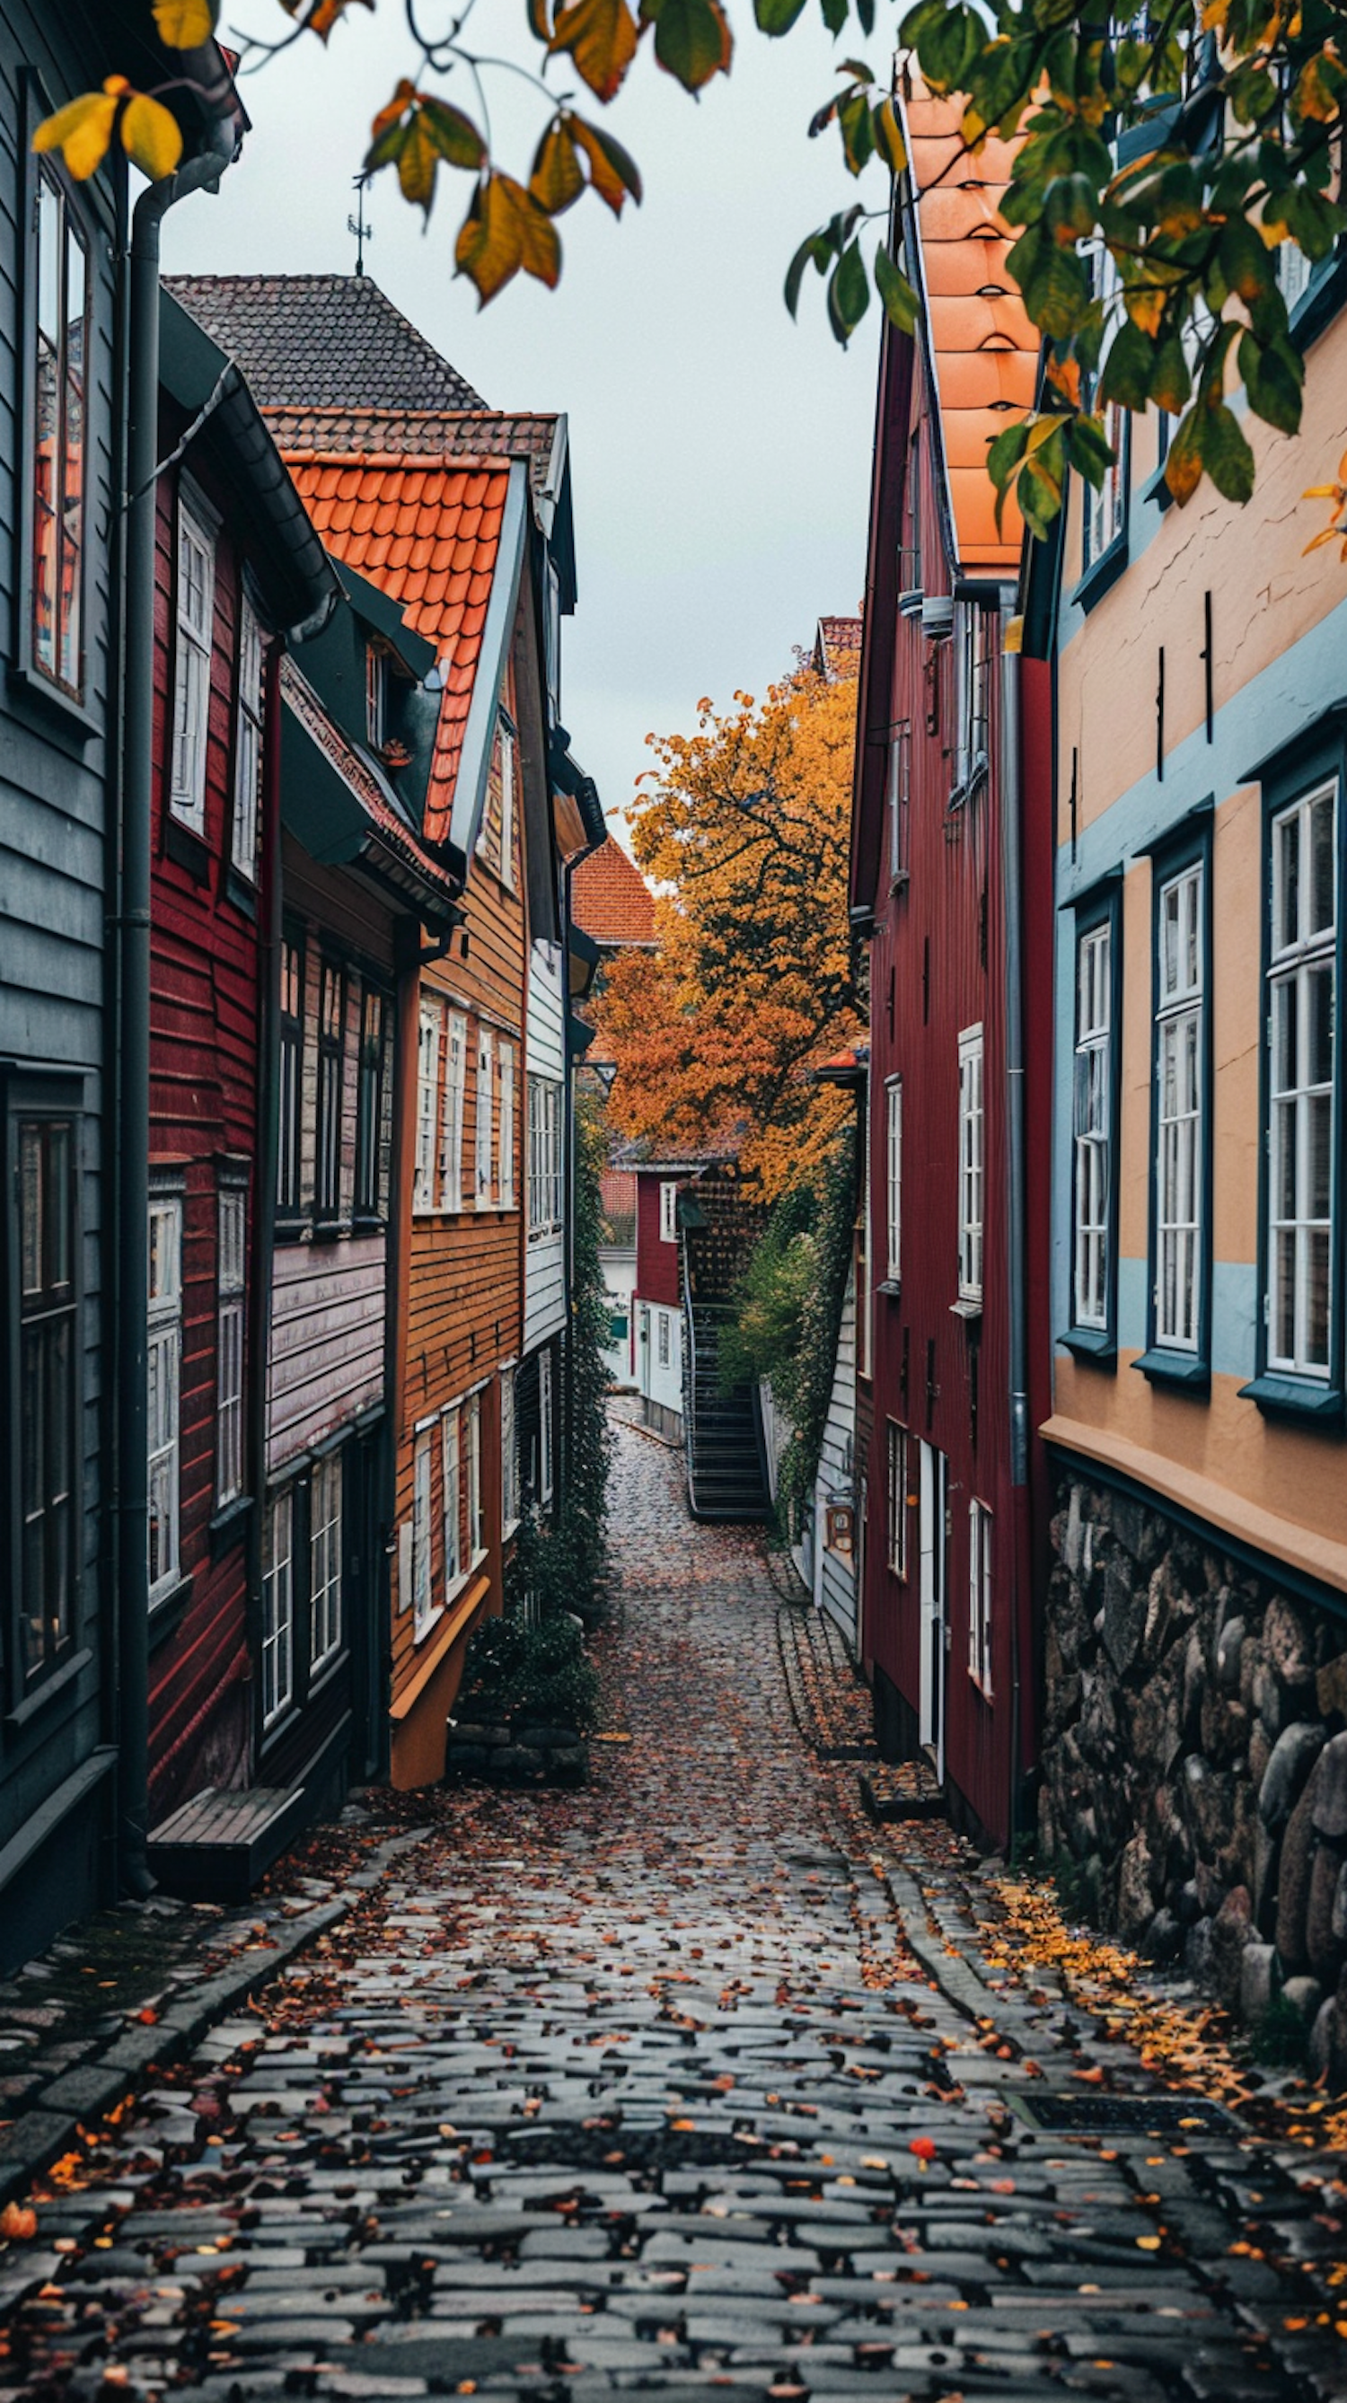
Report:
[[[439,14],[449,7],[427,0],[427,24]],[[814,274],[800,324],[780,300],[797,240],[855,190],[836,130],[804,135],[838,53],[814,12],[778,43],[747,5],[732,14],[735,70],[699,103],[653,67],[648,41],[612,111],[581,89],[581,115],[636,154],[646,202],[617,226],[586,195],[559,221],[555,293],[519,276],[478,312],[454,276],[463,175],[442,171],[425,235],[391,171],[367,202],[367,272],[483,399],[569,411],[579,608],[562,644],[564,718],[607,810],[648,767],[651,728],[692,733],[701,694],[761,692],[819,615],[855,610],[864,579],[876,310],[843,353]],[[303,41],[245,79],[252,135],[218,197],[166,219],[168,272],[355,267],[351,175],[375,106],[413,60],[399,0],[351,19],[327,53]],[[223,38],[231,26],[271,38],[283,19],[276,0],[226,0]],[[523,0],[478,0],[473,34],[483,50],[538,58]],[[574,70],[552,82],[574,84]],[[499,163],[526,173],[535,96],[497,77],[487,99]],[[881,204],[879,168],[862,192]]]

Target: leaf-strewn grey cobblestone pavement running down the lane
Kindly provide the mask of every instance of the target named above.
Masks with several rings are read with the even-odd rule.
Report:
[[[579,1795],[437,1797],[127,2105],[2,2266],[0,2393],[1342,2396],[1347,2348],[1261,2259],[1268,2225],[1323,2249],[1313,2196],[1234,2122],[1157,2139],[1141,2071],[1138,2127],[1042,2124],[1097,2095],[1061,2004],[980,1982],[948,1833],[908,1872],[872,1850],[855,1766],[795,1730],[756,1538],[617,1444],[629,1742]]]

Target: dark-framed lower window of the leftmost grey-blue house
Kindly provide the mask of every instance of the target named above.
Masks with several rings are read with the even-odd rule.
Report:
[[[19,1120],[22,1668],[38,1677],[74,1634],[77,1298],[74,1120]]]

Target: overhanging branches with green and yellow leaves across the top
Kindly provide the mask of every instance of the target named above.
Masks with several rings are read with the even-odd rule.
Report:
[[[216,26],[218,0],[144,0],[166,50],[190,50]],[[377,0],[276,0],[274,41],[245,38],[243,67],[295,41],[327,43]],[[511,7],[516,0],[511,0]],[[754,0],[764,34],[785,36],[807,0]],[[819,0],[836,38],[872,41],[876,0]],[[262,0],[257,0],[262,7]],[[557,219],[595,195],[622,214],[641,199],[636,161],[593,120],[643,55],[687,91],[732,65],[723,0],[523,0],[516,41],[478,38],[485,0],[430,19],[425,0],[384,0],[399,58],[415,60],[377,108],[358,175],[394,175],[403,197],[430,209],[442,173],[461,175],[459,274],[490,300],[519,272],[557,284]],[[499,10],[499,0],[497,0]],[[855,31],[852,31],[855,29]],[[1008,425],[989,469],[1016,490],[1030,529],[1044,531],[1066,471],[1100,485],[1112,461],[1104,409],[1157,404],[1179,418],[1167,481],[1184,505],[1210,476],[1229,500],[1253,490],[1253,452],[1232,406],[1237,387],[1265,423],[1294,433],[1304,365],[1292,339],[1275,257],[1294,245],[1325,260],[1347,228],[1342,207],[1342,106],[1347,0],[917,0],[886,17],[879,67],[848,55],[838,89],[821,96],[809,135],[840,139],[840,168],[905,166],[893,38],[905,46],[898,89],[920,72],[936,94],[963,96],[963,147],[946,178],[975,175],[994,135],[1013,139],[1004,214],[1018,228],[1011,272],[1044,339],[1044,406]],[[389,34],[389,48],[394,38]],[[492,147],[487,84],[526,77],[538,96],[531,159]],[[588,94],[576,106],[564,77]],[[113,142],[163,175],[178,132],[161,99],[122,77],[48,118],[41,147],[60,147],[72,175],[89,175]],[[905,272],[900,219],[884,187],[845,202],[804,238],[785,279],[800,303],[814,267],[826,315],[848,341],[879,293],[915,327],[920,300]],[[1340,469],[1340,476],[1347,466]],[[1345,536],[1347,488],[1316,488]]]

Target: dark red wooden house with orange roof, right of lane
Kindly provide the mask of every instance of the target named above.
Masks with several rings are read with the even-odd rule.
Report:
[[[1025,1226],[1047,1214],[1025,1211],[1025,1161],[1047,1165],[1049,976],[1025,959],[1052,956],[1052,887],[1020,526],[996,529],[984,452],[1032,399],[1037,344],[1006,276],[1006,149],[948,185],[958,108],[912,99],[908,135],[893,235],[924,317],[881,348],[850,892],[872,1012],[862,1653],[884,1749],[924,1752],[951,1814],[1006,1843],[1035,1742],[1047,1355]]]

